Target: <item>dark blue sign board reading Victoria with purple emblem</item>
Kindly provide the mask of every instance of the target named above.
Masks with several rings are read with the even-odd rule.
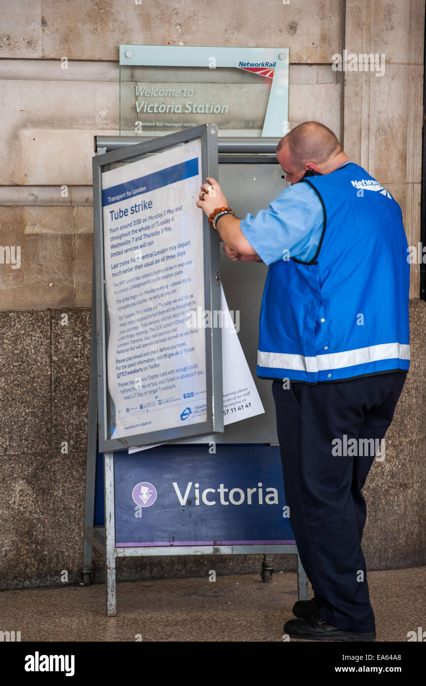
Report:
[[[295,543],[279,447],[114,453],[116,547]]]

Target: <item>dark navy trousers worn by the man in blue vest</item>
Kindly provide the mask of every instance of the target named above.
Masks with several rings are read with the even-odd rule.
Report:
[[[286,504],[299,556],[321,604],[319,614],[342,630],[375,630],[361,549],[362,487],[375,449],[372,441],[368,449],[360,439],[384,438],[405,376],[390,372],[315,385],[290,382],[288,389],[281,381],[272,385]],[[339,455],[339,446],[344,453],[348,441],[347,455]],[[383,452],[386,460],[384,443],[377,444],[379,460]]]

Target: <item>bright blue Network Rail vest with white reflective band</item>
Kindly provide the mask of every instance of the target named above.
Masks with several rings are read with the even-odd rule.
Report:
[[[258,376],[317,383],[408,370],[410,264],[399,204],[353,163],[302,182],[323,204],[323,235],[310,262],[269,266]]]

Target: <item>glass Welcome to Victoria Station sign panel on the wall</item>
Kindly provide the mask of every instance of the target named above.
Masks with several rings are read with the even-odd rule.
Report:
[[[216,123],[222,136],[288,132],[288,49],[120,46],[120,134]]]

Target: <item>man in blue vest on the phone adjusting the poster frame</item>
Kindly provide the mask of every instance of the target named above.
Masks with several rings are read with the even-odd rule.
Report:
[[[286,503],[314,591],[284,632],[373,641],[362,487],[410,365],[407,239],[399,204],[327,127],[297,126],[276,154],[292,185],[267,210],[238,219],[212,178],[197,206],[221,209],[212,225],[227,257],[271,265],[257,373],[273,379]]]

